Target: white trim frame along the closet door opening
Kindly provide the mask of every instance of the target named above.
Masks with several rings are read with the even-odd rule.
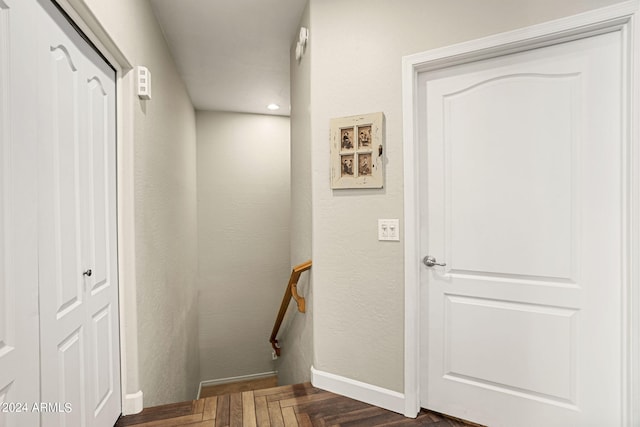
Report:
[[[116,70],[117,250],[120,386],[123,415],[142,411],[136,304],[134,103],[132,63],[87,6],[85,0],[51,0],[60,6]]]

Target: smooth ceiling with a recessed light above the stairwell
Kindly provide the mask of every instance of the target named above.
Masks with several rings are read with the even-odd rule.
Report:
[[[289,50],[306,0],[150,1],[196,109],[289,115]]]

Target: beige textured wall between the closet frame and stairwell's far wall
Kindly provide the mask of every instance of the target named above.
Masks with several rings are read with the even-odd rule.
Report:
[[[193,399],[199,383],[195,112],[148,1],[84,1],[127,59],[152,75],[153,99],[131,106],[144,406]]]

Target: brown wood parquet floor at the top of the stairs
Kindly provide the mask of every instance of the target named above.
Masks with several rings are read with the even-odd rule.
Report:
[[[121,417],[115,427],[130,426],[467,427],[471,424],[429,411],[422,411],[415,419],[405,418],[306,383],[148,408],[139,414]]]

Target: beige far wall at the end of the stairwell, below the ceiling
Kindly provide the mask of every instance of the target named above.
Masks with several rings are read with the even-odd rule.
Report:
[[[275,369],[269,335],[289,279],[289,118],[197,113],[203,381]]]

